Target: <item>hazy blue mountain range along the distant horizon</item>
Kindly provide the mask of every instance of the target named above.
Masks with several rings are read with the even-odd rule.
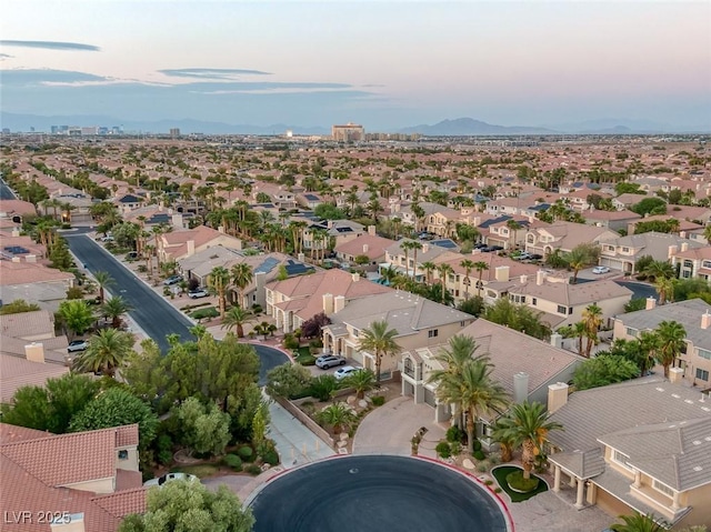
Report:
[[[196,119],[137,121],[101,116],[54,116],[18,114],[0,112],[0,128],[10,131],[50,132],[52,126],[102,126],[121,127],[124,132],[166,133],[179,128],[181,133],[206,134],[260,134],[273,135],[292,131],[294,134],[329,134],[330,128],[303,127],[276,123],[270,126],[230,124]],[[365,124],[365,130],[368,127]],[[683,130],[669,124],[648,120],[601,119],[584,122],[570,122],[547,126],[497,126],[471,118],[442,120],[434,124],[420,124],[391,131],[399,133],[421,133],[425,137],[468,137],[468,135],[525,135],[525,134],[653,134],[653,133],[709,133],[711,128]]]

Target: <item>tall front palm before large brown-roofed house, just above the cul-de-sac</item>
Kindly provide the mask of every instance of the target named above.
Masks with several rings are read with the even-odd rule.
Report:
[[[477,420],[492,410],[503,410],[509,398],[503,387],[491,379],[492,365],[485,360],[464,363],[461,374],[450,374],[440,381],[437,395],[441,401],[458,404],[467,413],[467,449],[474,450]]]

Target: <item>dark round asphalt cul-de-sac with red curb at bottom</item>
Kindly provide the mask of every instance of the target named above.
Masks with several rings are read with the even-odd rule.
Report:
[[[507,532],[502,510],[482,486],[405,456],[307,465],[267,484],[250,506],[253,532]]]

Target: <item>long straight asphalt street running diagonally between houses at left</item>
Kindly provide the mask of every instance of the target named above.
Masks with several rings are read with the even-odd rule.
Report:
[[[116,284],[109,288],[113,295],[121,295],[133,308],[129,314],[146,334],[156,340],[162,352],[170,349],[166,337],[168,334],[179,334],[182,341],[192,341],[194,337],[190,334],[192,322],[188,320],[179,310],[168,303],[157,294],[150,287],[147,287],[133,273],[128,271],[111,253],[94,242],[83,232],[89,228],[77,232],[64,232],[63,237],[72,253],[80,262],[87,265],[92,273],[106,271],[114,279]],[[289,361],[289,358],[281,351],[267,345],[252,344],[260,359],[259,385],[267,383],[267,372],[272,368]]]

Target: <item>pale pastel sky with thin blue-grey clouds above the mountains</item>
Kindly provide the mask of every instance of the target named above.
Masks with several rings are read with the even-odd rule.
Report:
[[[711,131],[711,2],[3,0],[0,107],[393,131]]]

